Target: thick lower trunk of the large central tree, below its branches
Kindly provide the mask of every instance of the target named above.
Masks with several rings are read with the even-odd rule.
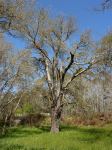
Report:
[[[61,119],[62,107],[59,109],[56,107],[51,109],[51,132],[58,133],[60,130],[60,119]]]

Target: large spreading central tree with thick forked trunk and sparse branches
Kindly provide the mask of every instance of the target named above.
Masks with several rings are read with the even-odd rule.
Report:
[[[24,38],[37,52],[35,61],[41,64],[49,89],[51,132],[57,133],[69,85],[96,63],[89,32],[70,44],[76,31],[73,18],[49,17],[47,11],[36,10],[33,3],[25,1],[5,0],[0,7],[1,30]]]

